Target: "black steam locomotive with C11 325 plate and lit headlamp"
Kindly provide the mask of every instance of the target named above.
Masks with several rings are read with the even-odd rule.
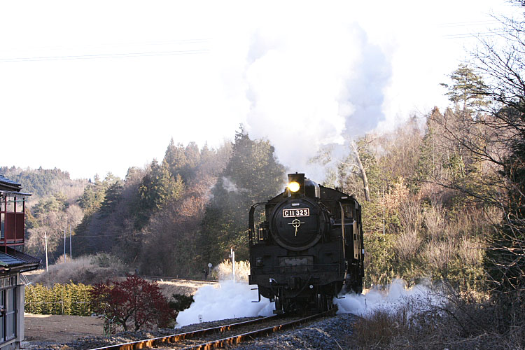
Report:
[[[363,291],[361,207],[353,196],[288,174],[283,193],[251,207],[248,225],[248,281],[259,298],[275,301],[276,314],[331,309],[343,286]]]

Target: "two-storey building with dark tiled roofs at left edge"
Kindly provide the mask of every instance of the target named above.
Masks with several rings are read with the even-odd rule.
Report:
[[[0,350],[20,349],[24,339],[25,285],[22,272],[40,259],[25,254],[25,202],[20,183],[0,175]]]

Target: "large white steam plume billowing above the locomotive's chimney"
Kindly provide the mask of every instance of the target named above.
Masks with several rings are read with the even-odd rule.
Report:
[[[246,123],[290,171],[318,180],[324,171],[309,159],[322,146],[344,145],[384,120],[391,64],[357,22],[319,27],[310,15],[293,26],[278,19],[251,36]]]

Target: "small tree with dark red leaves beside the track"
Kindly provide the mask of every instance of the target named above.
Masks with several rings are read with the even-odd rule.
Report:
[[[174,317],[158,283],[138,276],[97,284],[90,293],[94,312],[111,323],[122,325],[125,331],[130,326],[134,331],[144,325],[162,327]]]

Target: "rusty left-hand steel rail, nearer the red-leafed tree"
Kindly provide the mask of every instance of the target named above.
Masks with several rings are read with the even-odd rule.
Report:
[[[219,325],[218,327],[212,327],[212,328],[206,328],[203,330],[194,330],[193,332],[185,332],[180,334],[174,334],[174,335],[167,335],[165,337],[156,337],[151,339],[144,339],[144,340],[137,340],[137,342],[129,342],[125,344],[115,344],[115,345],[109,345],[109,346],[102,346],[96,349],[92,350],[135,350],[135,349],[147,349],[148,347],[151,348],[152,346],[162,344],[162,343],[174,343],[179,342],[184,339],[191,339],[193,337],[197,337],[200,335],[209,334],[212,332],[225,332],[226,330],[232,330],[234,328],[238,328],[243,325],[249,325],[251,323],[260,323],[267,321],[271,318],[276,318],[277,315],[262,317],[262,318],[255,318],[254,320],[244,321],[244,322],[238,322],[238,323],[232,323],[229,325]]]

